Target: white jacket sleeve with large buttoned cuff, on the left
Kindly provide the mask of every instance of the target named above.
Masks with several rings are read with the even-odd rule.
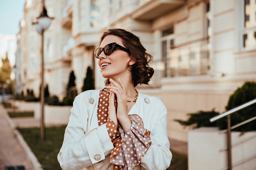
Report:
[[[82,110],[79,110],[76,99],[70,111],[63,145],[58,153],[58,162],[63,170],[81,170],[105,159],[105,156],[110,154],[113,144],[106,124],[86,132],[87,123],[84,121],[88,120],[88,113],[85,113],[85,118],[81,118]],[[87,112],[87,109],[83,111]]]

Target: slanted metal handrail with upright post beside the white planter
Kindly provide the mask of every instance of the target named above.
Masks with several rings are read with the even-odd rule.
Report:
[[[242,104],[241,106],[233,108],[233,109],[231,109],[231,110],[229,110],[229,111],[227,111],[225,113],[222,113],[221,115],[218,115],[218,116],[213,117],[213,118],[210,119],[210,121],[213,122],[213,121],[219,120],[219,119],[227,116],[227,160],[228,160],[228,167],[225,168],[225,169],[232,170],[232,167],[236,166],[236,165],[232,166],[232,161],[231,161],[232,158],[231,158],[231,120],[230,120],[230,116],[231,116],[232,113],[235,113],[238,110],[241,110],[243,108],[251,106],[252,104],[255,104],[255,103],[256,103],[256,99],[254,99],[254,100],[252,100],[250,102],[247,102],[245,104]],[[236,128],[236,127],[238,127],[240,125],[246,124],[246,123],[248,123],[249,121],[252,121],[252,120],[254,120],[254,118],[249,119],[247,121],[243,121],[242,123],[233,126],[233,128]],[[248,160],[250,160],[250,159],[248,159]],[[241,163],[243,163],[245,161],[247,161],[247,159],[242,160]]]

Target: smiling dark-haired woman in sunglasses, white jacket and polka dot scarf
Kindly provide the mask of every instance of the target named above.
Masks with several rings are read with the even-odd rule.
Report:
[[[172,154],[161,100],[135,87],[154,70],[137,36],[123,29],[103,33],[95,57],[106,88],[74,99],[58,161],[63,170],[166,170]]]

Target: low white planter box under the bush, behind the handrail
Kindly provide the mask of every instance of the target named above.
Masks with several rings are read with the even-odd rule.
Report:
[[[220,134],[218,128],[198,128],[189,131],[188,161],[189,170],[222,170],[227,167],[226,133]],[[231,143],[256,135],[255,131],[231,132]],[[256,137],[231,148],[232,164],[256,154]],[[234,166],[232,170],[256,170],[256,158]]]

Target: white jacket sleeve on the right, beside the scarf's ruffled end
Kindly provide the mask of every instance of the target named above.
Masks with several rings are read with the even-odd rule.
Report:
[[[141,166],[146,170],[166,170],[172,159],[170,142],[167,137],[167,110],[164,104],[159,111],[160,116],[150,132],[151,145],[141,158]]]

